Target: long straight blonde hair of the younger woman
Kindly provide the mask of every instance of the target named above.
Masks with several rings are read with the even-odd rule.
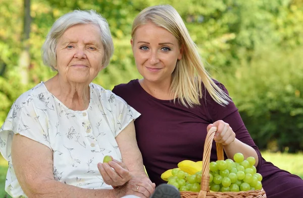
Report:
[[[183,50],[183,55],[177,61],[172,74],[171,94],[174,94],[174,102],[178,97],[184,106],[193,107],[200,105],[203,97],[202,83],[211,97],[221,105],[227,105],[229,96],[220,89],[206,71],[197,46],[190,38],[185,24],[178,12],[170,5],[152,6],[142,10],[134,19],[131,36],[134,38],[136,29],[140,25],[151,22],[163,27],[172,33],[178,40]]]

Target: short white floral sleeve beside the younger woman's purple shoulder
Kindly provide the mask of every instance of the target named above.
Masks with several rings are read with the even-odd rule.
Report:
[[[117,125],[115,126],[115,137],[132,121],[141,114],[129,106],[121,97],[115,95],[117,107]]]

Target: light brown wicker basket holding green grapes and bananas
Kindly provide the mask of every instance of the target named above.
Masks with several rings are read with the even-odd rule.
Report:
[[[264,189],[248,190],[239,192],[210,192],[210,156],[212,143],[217,131],[217,127],[213,126],[208,131],[203,153],[203,168],[201,176],[201,190],[199,192],[181,191],[182,198],[266,198]],[[223,146],[216,143],[218,160],[224,160]]]

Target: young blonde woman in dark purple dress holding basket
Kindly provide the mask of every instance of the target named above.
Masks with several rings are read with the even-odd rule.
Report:
[[[206,72],[196,45],[177,11],[167,6],[144,9],[134,19],[131,46],[143,79],[113,89],[141,113],[136,139],[152,182],[178,162],[200,161],[207,130],[217,126],[215,142],[225,158],[241,152],[256,159],[268,198],[300,197],[303,180],[266,162],[251,139],[228,91]],[[216,161],[213,144],[211,161]]]

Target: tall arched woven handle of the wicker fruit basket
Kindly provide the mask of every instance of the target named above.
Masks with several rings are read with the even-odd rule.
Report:
[[[218,128],[213,126],[209,129],[203,152],[203,165],[202,165],[202,176],[201,176],[201,184],[200,184],[200,192],[198,194],[198,198],[205,198],[207,192],[210,191],[210,160],[211,160],[211,150],[212,143],[214,141],[214,136],[217,132]],[[217,158],[218,160],[224,160],[223,146],[220,143],[216,143],[217,147]]]

